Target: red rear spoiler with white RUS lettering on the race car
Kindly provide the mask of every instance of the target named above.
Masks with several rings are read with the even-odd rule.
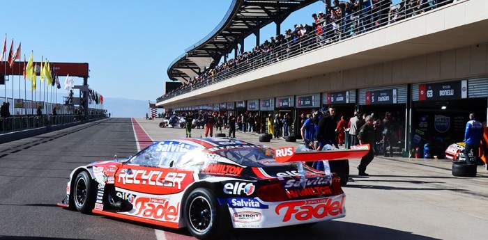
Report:
[[[295,152],[295,147],[280,147],[275,149],[275,159],[280,163],[292,161],[322,161],[360,159],[369,152],[369,144],[351,146],[351,149]]]

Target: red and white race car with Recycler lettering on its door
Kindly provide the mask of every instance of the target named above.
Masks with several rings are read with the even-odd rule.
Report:
[[[127,159],[73,170],[58,205],[165,227],[197,239],[234,228],[312,225],[345,216],[340,178],[302,161],[363,157],[354,150],[296,152],[233,138],[179,138]]]

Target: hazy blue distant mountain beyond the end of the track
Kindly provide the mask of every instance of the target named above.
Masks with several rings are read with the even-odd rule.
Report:
[[[112,113],[112,118],[146,118],[146,113],[151,115],[148,102],[144,100],[104,97],[103,108]]]

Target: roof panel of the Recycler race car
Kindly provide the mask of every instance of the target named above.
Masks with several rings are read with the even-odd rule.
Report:
[[[158,142],[165,145],[180,145],[188,150],[202,148],[211,152],[245,147],[264,147],[256,143],[240,141],[236,138],[176,138]],[[178,151],[178,150],[176,150]],[[172,151],[171,151],[172,152]]]

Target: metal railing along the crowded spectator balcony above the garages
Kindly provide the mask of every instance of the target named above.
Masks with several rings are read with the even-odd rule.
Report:
[[[460,0],[469,1],[469,0]],[[162,102],[193,90],[205,88],[214,83],[219,83],[232,77],[257,70],[261,67],[277,63],[279,61],[305,54],[308,51],[327,47],[327,45],[340,42],[344,39],[361,35],[368,31],[387,26],[415,15],[420,15],[452,3],[452,0],[426,0],[426,1],[401,1],[396,5],[391,5],[389,1],[379,1],[368,8],[360,9],[351,14],[344,14],[344,17],[337,18],[330,22],[319,22],[322,34],[318,34],[317,24],[313,24],[314,31],[298,38],[291,37],[287,42],[273,48],[261,51],[257,56],[245,59],[242,63],[236,63],[231,67],[224,68],[213,74],[212,77],[206,77],[196,81],[195,79],[182,89],[174,90],[171,93],[162,95],[156,99],[156,102]],[[456,2],[456,1],[454,1]],[[379,3],[385,3],[381,6]],[[336,14],[337,15],[337,14]],[[324,24],[325,22],[325,24]],[[242,55],[241,55],[242,56]]]

